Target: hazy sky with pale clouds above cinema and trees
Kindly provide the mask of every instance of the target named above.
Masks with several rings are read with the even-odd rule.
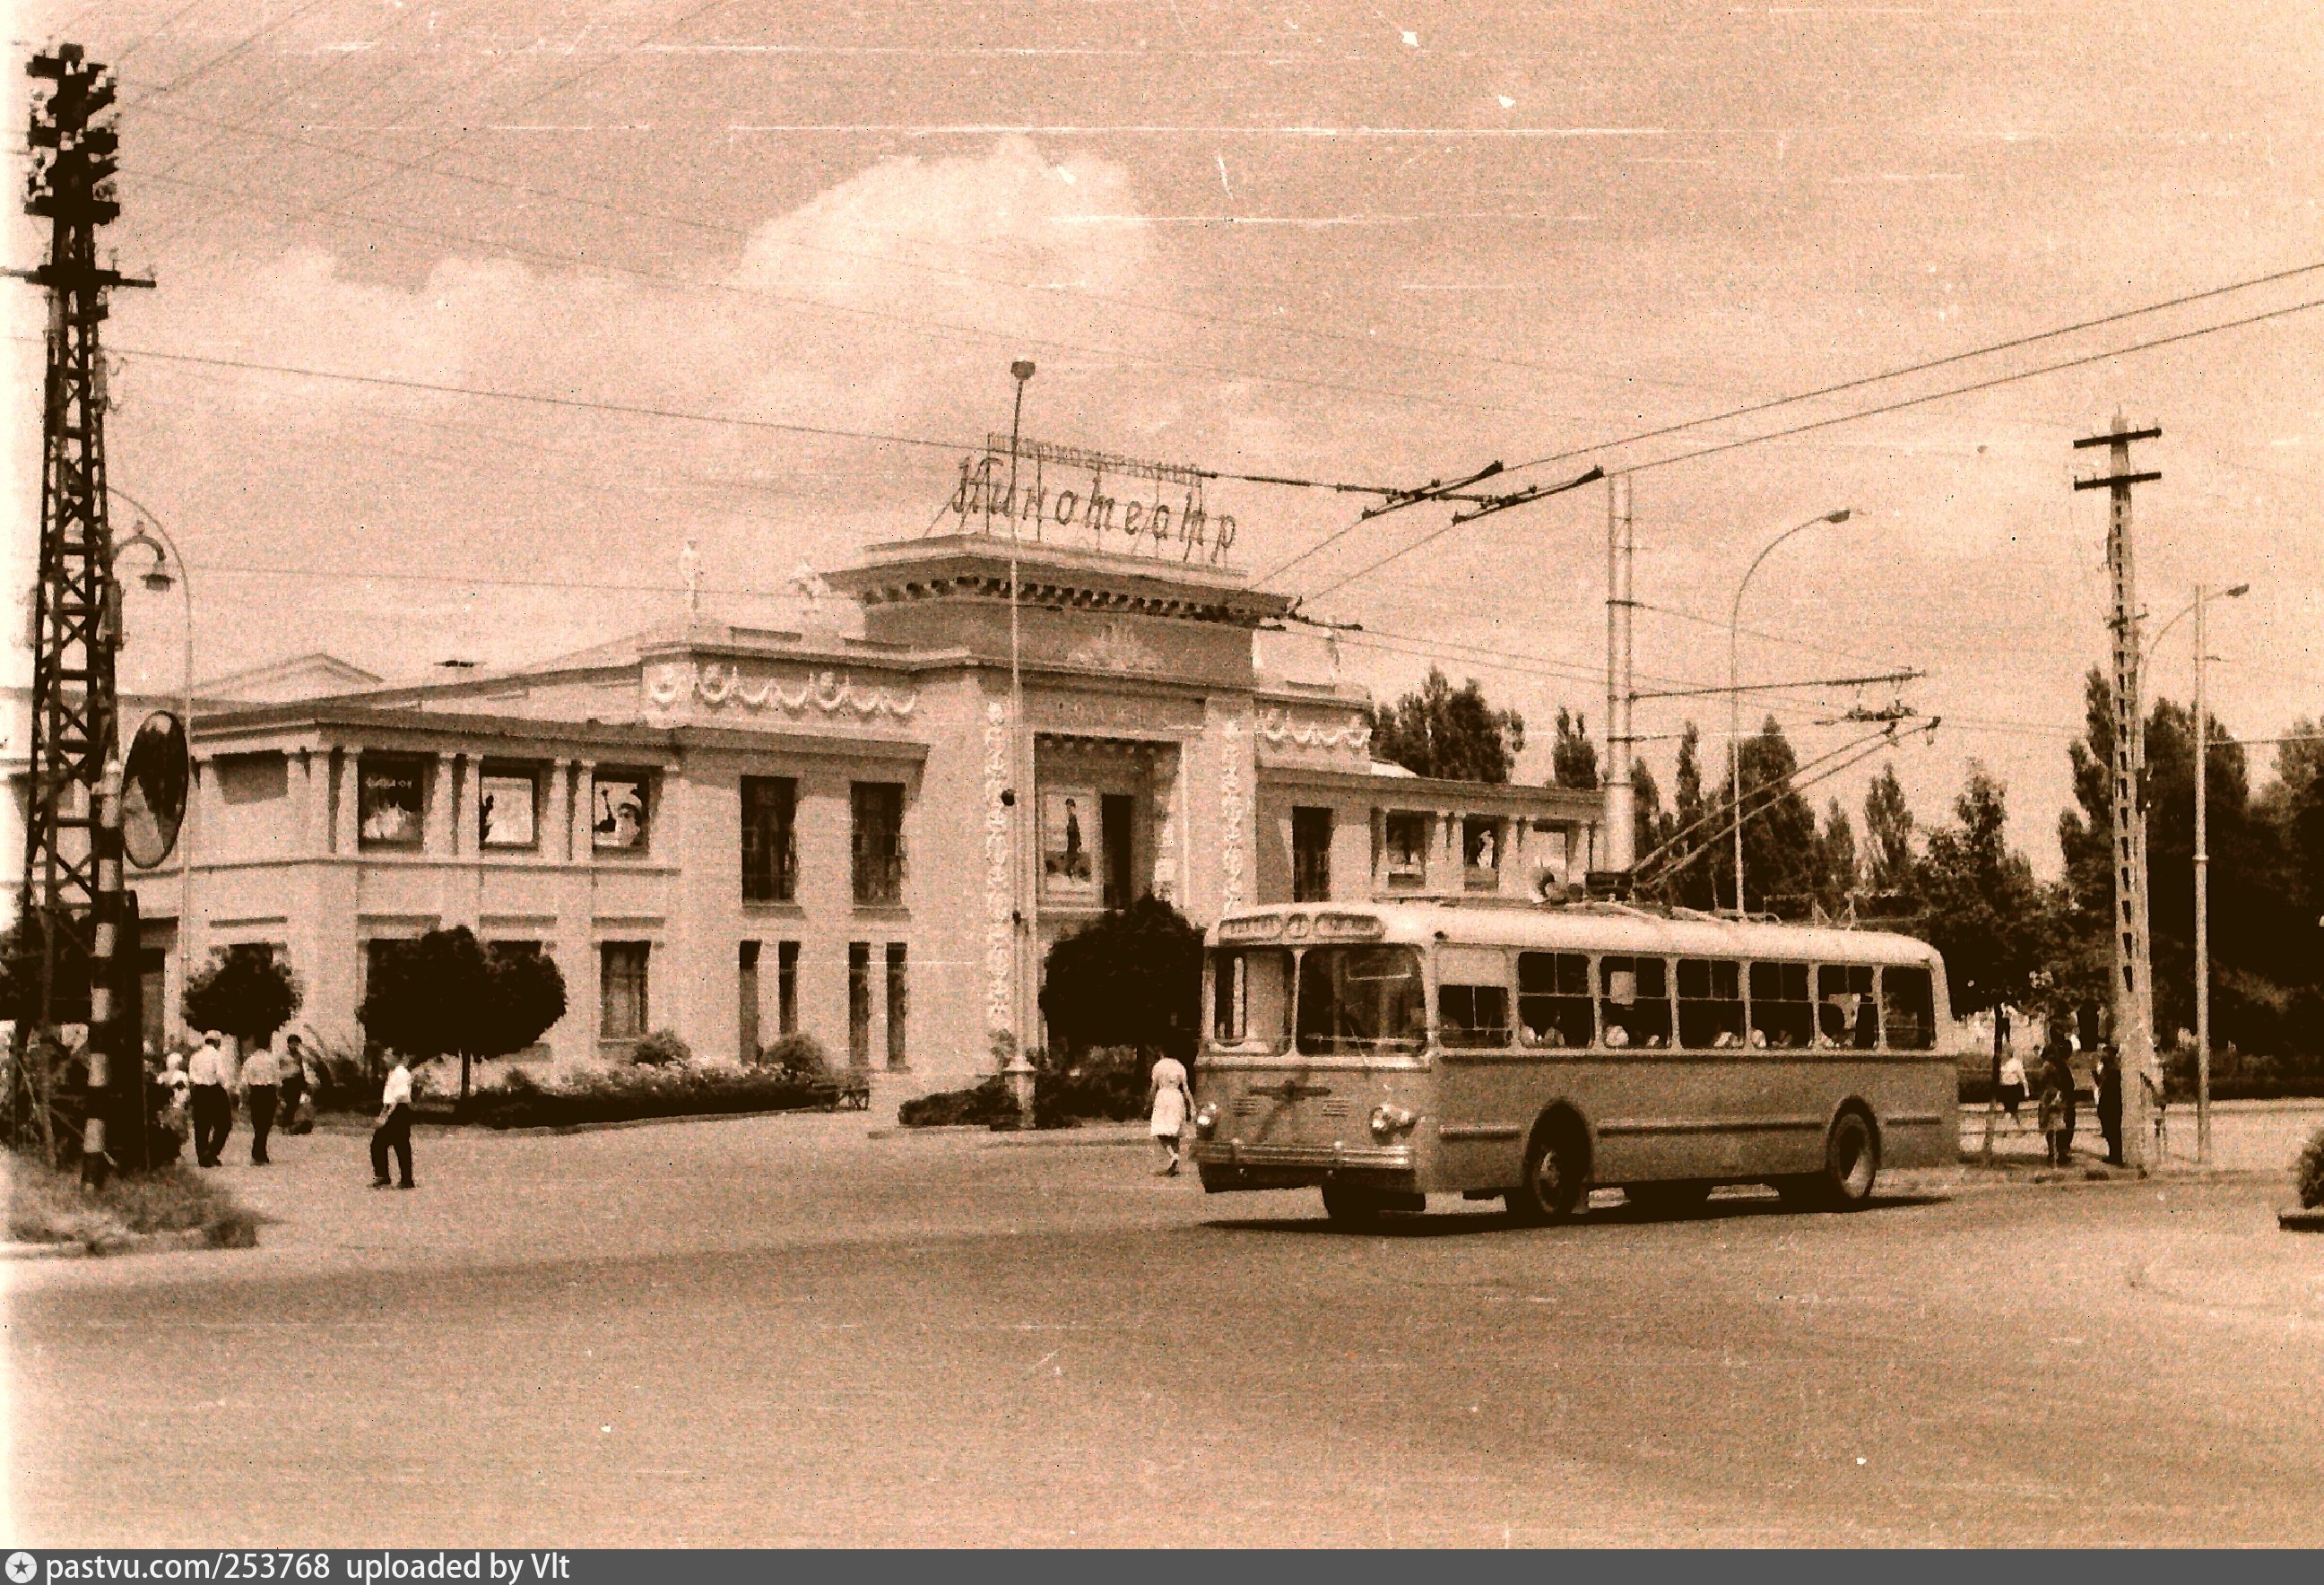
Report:
[[[579,648],[683,614],[688,539],[711,616],[779,625],[802,565],[941,528],[1027,358],[1025,432],[1060,444],[1371,486],[1631,469],[1643,690],[1724,683],[1752,558],[1848,507],[1750,579],[1741,672],[1927,676],[1750,716],[1801,760],[1852,707],[1941,716],[1808,795],[1857,811],[1892,760],[1927,823],[1975,760],[2043,872],[2106,658],[2071,442],[2119,409],[2164,430],[2147,630],[2247,581],[2215,713],[2324,713],[2312,5],[63,0],[7,37],[121,77],[102,242],[158,286],[105,325],[109,467],[191,562],[205,676]],[[19,218],[5,263],[42,249]],[[23,586],[42,304],[5,302]],[[2257,323],[2187,335],[2229,321]],[[1362,500],[1208,490],[1250,576],[1362,623],[1343,676],[1476,676],[1545,779],[1559,707],[1604,730],[1604,486],[1459,528]],[[177,595],[130,600],[125,681],[174,690]],[[2180,700],[2189,630],[2154,655]],[[1664,788],[1687,718],[1722,741],[1715,693],[1638,707]]]

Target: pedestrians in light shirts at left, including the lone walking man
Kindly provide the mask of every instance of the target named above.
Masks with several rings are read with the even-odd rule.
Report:
[[[284,1037],[277,1055],[265,1041],[251,1046],[239,1067],[216,1030],[202,1034],[193,1057],[170,1053],[158,1074],[167,1090],[163,1127],[193,1141],[193,1160],[216,1167],[225,1160],[225,1141],[235,1132],[235,1099],[251,1118],[251,1167],[270,1167],[267,1141],[281,1118],[286,1134],[314,1132],[314,1104],[323,1090],[323,1067],[297,1034]],[[388,1176],[388,1157],[397,1176]],[[372,1188],[416,1188],[411,1181],[411,1062],[395,1055],[379,1090],[379,1118],[372,1127]]]

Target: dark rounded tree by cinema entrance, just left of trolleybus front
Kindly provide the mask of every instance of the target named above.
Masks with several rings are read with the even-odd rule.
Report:
[[[1136,1046],[1195,1055],[1202,1002],[1202,932],[1153,892],[1083,925],[1048,948],[1041,1016],[1050,1039],[1078,1055]]]

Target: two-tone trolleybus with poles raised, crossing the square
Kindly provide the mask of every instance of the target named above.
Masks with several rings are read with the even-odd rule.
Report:
[[[1597,1185],[1862,1204],[1957,1148],[1945,964],[1908,937],[1624,904],[1243,909],[1208,932],[1192,1157],[1334,1220]]]

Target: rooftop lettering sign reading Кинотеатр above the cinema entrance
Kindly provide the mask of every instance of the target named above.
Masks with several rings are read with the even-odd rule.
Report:
[[[988,435],[981,458],[960,458],[951,511],[964,532],[1232,565],[1234,518],[1204,507],[1204,469],[1039,439],[1013,449],[1016,469],[1006,435]]]

